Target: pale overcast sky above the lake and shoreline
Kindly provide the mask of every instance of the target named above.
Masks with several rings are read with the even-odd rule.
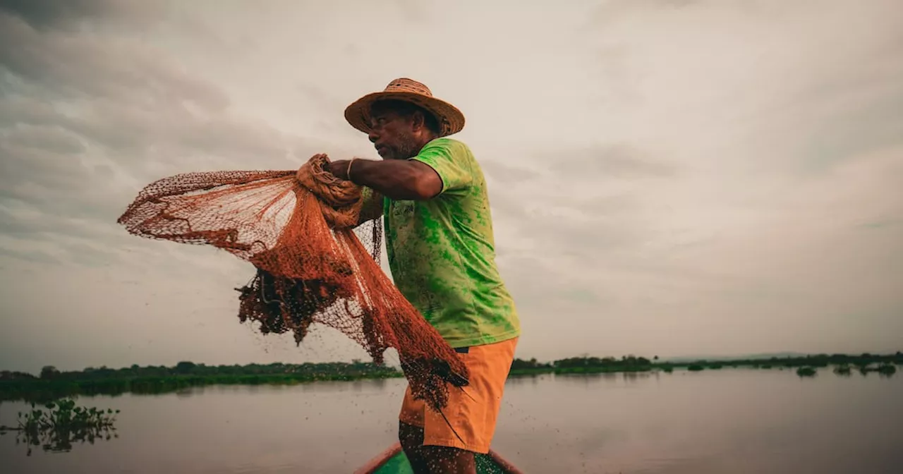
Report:
[[[903,349],[897,0],[0,0],[0,368],[366,358],[261,336],[253,267],[116,218],[378,159],[343,110],[402,77],[467,117],[517,357]]]

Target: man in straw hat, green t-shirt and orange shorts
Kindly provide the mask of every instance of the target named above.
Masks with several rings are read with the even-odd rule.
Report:
[[[488,452],[495,432],[520,322],[495,264],[483,173],[468,146],[448,138],[464,116],[424,84],[396,79],[345,117],[384,160],[340,160],[330,172],[365,187],[361,222],[384,219],[396,286],[470,371],[464,390],[450,388],[442,414],[408,388],[399,441],[414,472],[475,473],[473,454]]]

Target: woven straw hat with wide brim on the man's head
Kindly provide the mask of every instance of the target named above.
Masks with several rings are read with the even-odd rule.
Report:
[[[424,84],[407,78],[395,79],[382,92],[358,98],[345,109],[345,119],[361,132],[370,133],[370,106],[379,99],[405,100],[429,110],[439,122],[439,136],[457,134],[464,128],[464,114],[461,110],[444,100],[434,98],[433,92]]]

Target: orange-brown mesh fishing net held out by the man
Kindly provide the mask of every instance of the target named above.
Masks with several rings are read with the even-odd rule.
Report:
[[[256,275],[239,289],[238,318],[264,332],[312,322],[354,339],[377,363],[388,348],[414,397],[445,406],[448,386],[467,385],[467,367],[379,267],[381,224],[358,226],[361,188],[314,155],[297,172],[192,172],[155,181],[118,222],[137,236],[216,246],[247,260]],[[358,237],[367,234],[365,241]]]

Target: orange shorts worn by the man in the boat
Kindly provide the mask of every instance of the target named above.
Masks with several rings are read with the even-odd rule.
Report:
[[[463,387],[464,391],[449,386],[449,403],[442,409],[448,423],[442,414],[433,412],[423,400],[414,400],[410,387],[405,390],[405,401],[398,420],[423,428],[424,446],[446,446],[484,454],[489,452],[516,347],[517,338],[470,346],[466,352],[459,349],[458,355],[470,372],[470,384]],[[458,439],[459,436],[461,439]]]

